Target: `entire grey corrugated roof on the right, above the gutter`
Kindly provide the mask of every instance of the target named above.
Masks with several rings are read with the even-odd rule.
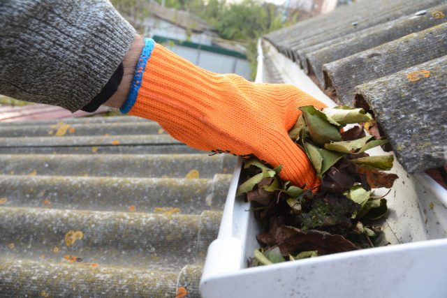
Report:
[[[372,110],[407,172],[447,164],[447,1],[369,0],[264,36],[337,103]]]

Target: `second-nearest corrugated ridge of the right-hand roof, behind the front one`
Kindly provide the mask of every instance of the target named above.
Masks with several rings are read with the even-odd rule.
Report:
[[[447,24],[440,24],[324,64],[324,88],[334,87],[339,100],[352,105],[357,85],[446,55],[446,34]]]

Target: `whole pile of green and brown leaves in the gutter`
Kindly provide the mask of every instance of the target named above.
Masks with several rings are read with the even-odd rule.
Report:
[[[289,136],[311,161],[320,187],[292,186],[256,158],[244,161],[245,181],[236,195],[253,202],[256,218],[268,223],[268,232],[256,239],[251,266],[313,258],[374,247],[381,228],[374,221],[387,211],[386,199],[374,197],[374,188],[391,188],[396,174],[393,155],[369,156],[365,151],[386,144],[367,136],[365,126],[374,119],[363,109],[339,106],[317,110],[300,107],[302,114]],[[349,124],[351,128],[345,127]],[[388,191],[389,193],[389,191]],[[388,194],[387,193],[387,194]]]

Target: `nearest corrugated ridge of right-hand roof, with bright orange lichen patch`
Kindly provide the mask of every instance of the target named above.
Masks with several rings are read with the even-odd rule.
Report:
[[[355,92],[356,105],[374,111],[407,172],[447,164],[447,56],[361,84]]]

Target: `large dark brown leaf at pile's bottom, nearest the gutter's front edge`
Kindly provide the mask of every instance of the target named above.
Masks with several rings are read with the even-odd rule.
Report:
[[[281,254],[284,256],[292,255],[298,251],[318,251],[318,255],[330,255],[358,250],[351,241],[346,240],[343,236],[317,230],[302,231],[285,225],[277,228],[269,237],[265,237],[265,234],[258,234],[256,239],[270,246],[284,241],[279,245]],[[268,240],[268,243],[264,240]]]

